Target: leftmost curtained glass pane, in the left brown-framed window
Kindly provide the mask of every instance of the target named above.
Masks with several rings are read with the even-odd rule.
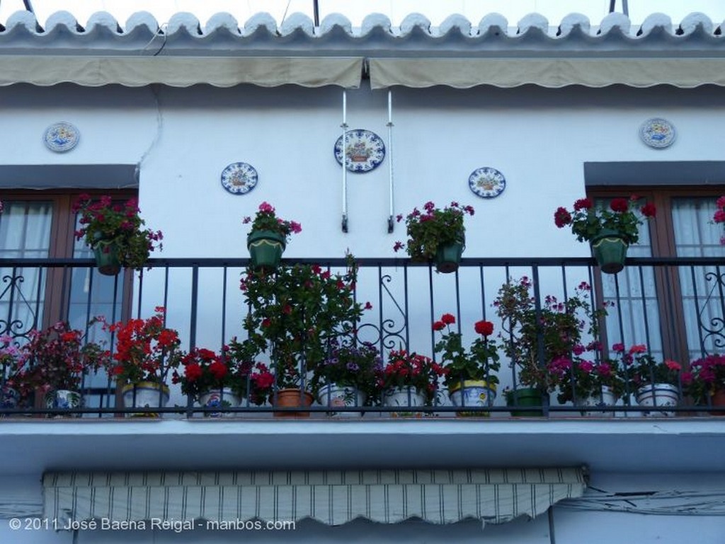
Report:
[[[4,201],[0,214],[0,256],[4,259],[47,258],[51,202]],[[41,325],[47,269],[0,268],[0,332],[24,335]]]

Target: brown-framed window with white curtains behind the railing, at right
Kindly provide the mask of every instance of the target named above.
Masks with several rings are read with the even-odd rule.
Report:
[[[640,230],[630,257],[723,257],[721,225],[711,219],[725,188],[627,187],[589,191],[597,201],[636,193],[653,201],[657,217]],[[689,361],[725,346],[725,268],[626,267],[602,275],[605,300],[619,299],[609,309],[606,341],[647,343],[655,357]]]

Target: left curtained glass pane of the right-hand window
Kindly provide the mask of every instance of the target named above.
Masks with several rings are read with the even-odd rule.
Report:
[[[598,205],[602,201],[597,200]],[[606,205],[609,201],[606,201]],[[647,222],[639,227],[639,241],[629,246],[628,257],[652,256],[652,241]],[[613,343],[645,344],[655,357],[661,357],[659,304],[653,267],[627,266],[618,274],[602,274],[605,301],[613,302],[606,319],[608,348]]]

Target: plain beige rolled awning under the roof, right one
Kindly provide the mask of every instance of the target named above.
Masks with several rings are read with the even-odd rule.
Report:
[[[370,59],[370,86],[431,87],[519,85],[605,87],[725,85],[725,59],[703,58],[497,58]]]

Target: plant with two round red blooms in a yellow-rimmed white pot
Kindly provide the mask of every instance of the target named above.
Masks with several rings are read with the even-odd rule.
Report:
[[[479,336],[471,343],[470,351],[467,351],[463,347],[461,333],[451,330],[455,322],[453,314],[443,314],[433,324],[433,330],[441,332],[434,352],[441,353],[446,372],[443,381],[448,388],[448,396],[454,406],[492,406],[499,382],[494,372],[501,367],[498,346],[489,338],[494,332],[494,324],[485,320],[474,323],[473,330]]]

